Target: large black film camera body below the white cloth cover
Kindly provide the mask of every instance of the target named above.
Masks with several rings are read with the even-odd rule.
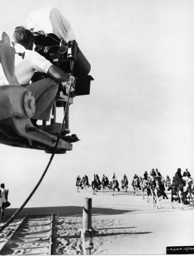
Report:
[[[53,33],[46,35],[34,33],[34,36],[36,45],[34,50],[64,72],[71,73],[75,77],[74,94],[76,96],[90,94],[90,81],[94,78],[88,75],[91,66],[77,42],[70,40],[65,43]]]

